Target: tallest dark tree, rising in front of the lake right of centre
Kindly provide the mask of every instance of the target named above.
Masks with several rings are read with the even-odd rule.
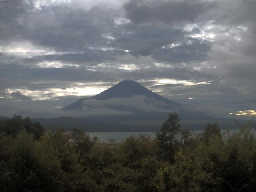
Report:
[[[180,130],[180,117],[177,113],[170,113],[162,124],[162,128],[156,133],[158,145],[162,148],[162,159],[173,162],[174,142]]]

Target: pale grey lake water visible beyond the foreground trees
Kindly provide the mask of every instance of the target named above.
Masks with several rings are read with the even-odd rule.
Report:
[[[238,132],[240,129],[230,130],[230,133]],[[192,134],[195,136],[199,134],[200,131],[192,131]],[[222,133],[226,130],[221,130]],[[150,138],[154,139],[156,137],[156,132],[87,132],[91,137],[97,136],[100,139],[100,142],[109,143],[109,139],[114,139],[115,142],[122,142],[125,138],[128,138],[132,135],[138,137],[139,135],[150,135]],[[254,135],[256,136],[256,130],[253,130]]]

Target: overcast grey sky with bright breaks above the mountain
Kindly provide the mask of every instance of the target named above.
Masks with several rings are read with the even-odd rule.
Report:
[[[252,0],[0,1],[0,115],[58,116],[125,79],[215,116],[256,113],[255,10]]]

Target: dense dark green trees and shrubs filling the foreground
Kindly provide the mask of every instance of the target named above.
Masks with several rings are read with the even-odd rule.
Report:
[[[0,122],[0,188],[14,188],[5,178],[11,172],[18,192],[255,191],[256,138],[248,124],[234,134],[207,124],[192,137],[179,122],[172,113],[154,140],[101,144],[82,130],[44,132],[14,116]]]

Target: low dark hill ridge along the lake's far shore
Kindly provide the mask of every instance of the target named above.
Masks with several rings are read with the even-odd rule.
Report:
[[[31,118],[31,122],[39,122],[45,130],[58,130],[62,129],[66,132],[70,132],[73,128],[78,128],[84,130],[86,132],[156,132],[160,129],[161,122],[159,124],[152,125],[138,125],[138,124],[122,124],[121,123],[109,123],[104,122],[107,121],[107,118],[112,117],[102,117],[101,120],[96,119],[88,119],[88,118],[74,118],[74,117],[56,117],[56,118]],[[118,118],[118,117],[114,117]],[[122,117],[119,116],[122,120]],[[166,118],[166,116],[165,116]],[[163,118],[163,121],[164,119]],[[0,120],[11,119],[10,117],[2,117],[0,116]],[[123,119],[124,120],[124,119]],[[247,120],[237,120],[240,124],[246,124]],[[215,122],[215,120],[209,121]],[[203,130],[207,123],[198,122],[194,124],[184,124],[183,120],[180,122],[181,129],[189,129],[189,130]],[[231,119],[222,119],[218,121],[218,126],[220,129],[239,129],[241,126]],[[255,127],[255,122],[252,122],[253,127]]]

